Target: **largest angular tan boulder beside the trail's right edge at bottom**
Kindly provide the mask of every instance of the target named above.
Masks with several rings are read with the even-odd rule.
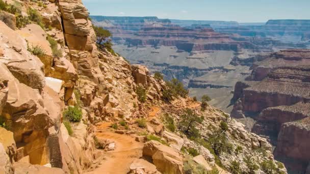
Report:
[[[183,159],[172,148],[151,140],[144,144],[143,156],[151,157],[162,173],[183,173]]]

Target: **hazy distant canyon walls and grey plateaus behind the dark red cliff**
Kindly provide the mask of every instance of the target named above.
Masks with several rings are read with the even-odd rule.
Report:
[[[256,60],[278,50],[309,45],[309,40],[301,39],[301,35],[307,35],[307,20],[264,24],[157,17],[91,18],[95,25],[111,31],[114,49],[120,55],[149,67],[151,72],[163,73],[168,80],[181,80],[192,97],[208,94],[213,99],[210,103],[226,112],[233,109],[230,99],[236,82],[251,73],[249,68]],[[266,34],[246,35],[233,30],[238,27],[252,33],[263,28],[260,30]],[[299,39],[287,41],[285,37]]]

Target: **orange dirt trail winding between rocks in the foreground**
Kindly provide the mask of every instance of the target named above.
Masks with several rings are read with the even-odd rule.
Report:
[[[98,128],[107,127],[107,124],[102,124]],[[87,172],[88,174],[125,174],[130,171],[132,162],[142,156],[143,143],[135,141],[130,135],[121,135],[110,130],[98,132],[97,136],[114,140],[115,150],[105,152],[106,159],[101,161],[101,165],[94,171]]]

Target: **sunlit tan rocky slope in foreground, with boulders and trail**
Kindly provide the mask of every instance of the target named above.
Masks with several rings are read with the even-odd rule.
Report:
[[[19,3],[18,12],[29,18],[24,26],[16,26],[18,15],[0,21],[1,173],[113,173],[120,157],[124,163],[117,171],[123,173],[183,173],[201,166],[228,173],[233,160],[240,171],[249,170],[248,154],[257,173],[266,172],[267,161],[273,172],[286,173],[267,140],[228,114],[212,106],[201,111],[201,103],[187,96],[163,102],[169,88],[163,80],[144,66],[98,50],[81,2]],[[200,141],[188,139],[178,127],[174,133],[166,130],[163,117],[170,115],[178,126],[185,108],[201,116]],[[68,120],[68,112],[81,119]],[[220,135],[229,140],[229,150],[216,155],[208,144],[221,124],[227,126]]]

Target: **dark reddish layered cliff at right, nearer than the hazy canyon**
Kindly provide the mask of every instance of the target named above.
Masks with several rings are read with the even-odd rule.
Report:
[[[254,117],[257,122],[252,131],[270,136],[276,145],[275,156],[289,169],[302,172],[309,162],[302,153],[308,142],[300,140],[297,145],[296,139],[308,133],[294,126],[308,124],[309,53],[306,49],[285,50],[254,63],[252,74],[235,86],[236,103],[231,112],[235,118]],[[299,136],[299,131],[304,133]]]

